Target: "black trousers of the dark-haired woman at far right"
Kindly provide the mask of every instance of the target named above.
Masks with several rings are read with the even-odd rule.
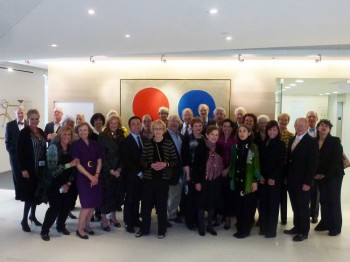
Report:
[[[343,176],[324,178],[319,181],[321,225],[330,232],[340,233],[342,227],[341,186]]]

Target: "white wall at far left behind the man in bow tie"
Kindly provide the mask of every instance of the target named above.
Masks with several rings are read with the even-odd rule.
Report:
[[[45,122],[44,71],[17,65],[15,68],[29,70],[33,74],[17,71],[8,72],[0,69],[0,100],[6,99],[10,104],[18,104],[17,100],[23,99],[25,107],[39,110],[42,119],[40,127],[43,127]],[[1,107],[0,113],[3,111],[4,109]],[[8,112],[11,118],[15,119],[14,107],[9,108]],[[5,140],[0,140],[0,173],[8,170],[10,170],[10,163]]]

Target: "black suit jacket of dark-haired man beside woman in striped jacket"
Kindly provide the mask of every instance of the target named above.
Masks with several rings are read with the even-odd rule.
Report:
[[[138,180],[141,172],[140,157],[142,149],[137,145],[134,137],[129,134],[120,143],[120,157],[122,161],[122,172],[126,183]]]

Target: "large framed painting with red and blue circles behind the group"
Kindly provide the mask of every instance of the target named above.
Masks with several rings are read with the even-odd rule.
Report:
[[[229,114],[230,89],[229,79],[121,79],[120,113],[125,120],[144,114],[158,119],[159,107],[165,106],[180,117],[182,109],[189,107],[197,116],[198,105],[204,103],[211,118],[219,106]]]

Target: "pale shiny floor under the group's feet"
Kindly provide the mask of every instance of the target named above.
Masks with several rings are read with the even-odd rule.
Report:
[[[349,175],[348,175],[349,176]],[[252,236],[237,240],[233,229],[218,228],[218,236],[200,237],[197,232],[175,224],[163,240],[152,233],[137,239],[123,228],[104,232],[93,223],[96,236],[82,240],[75,236],[76,220],[68,219],[67,228],[73,232],[62,236],[53,228],[51,241],[40,238],[40,227],[31,225],[32,232],[21,231],[23,203],[14,200],[12,190],[0,190],[0,261],[349,261],[350,259],[350,178],[343,183],[343,230],[338,237],[315,232],[309,239],[295,243],[282,233],[292,226],[292,212],[286,227],[278,228],[276,239],[264,239],[254,228]],[[37,217],[43,220],[46,205],[38,207]],[[75,211],[78,214],[78,210]],[[119,219],[122,214],[118,213]],[[155,218],[153,218],[153,221]]]

